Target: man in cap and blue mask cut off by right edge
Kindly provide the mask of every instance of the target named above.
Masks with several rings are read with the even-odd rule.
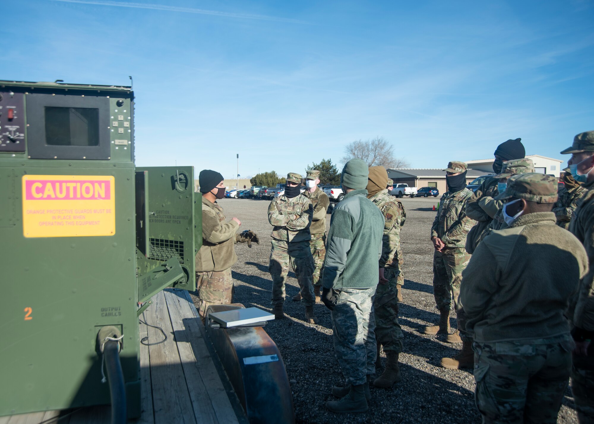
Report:
[[[586,194],[571,214],[569,230],[583,243],[590,267],[580,280],[577,295],[571,302],[567,316],[573,322],[571,335],[577,345],[573,354],[571,393],[580,424],[590,424],[594,423],[594,168],[590,168],[594,159],[594,131],[577,134],[573,145],[561,153],[572,154],[567,163],[577,166],[577,178],[586,175],[586,182],[583,184]],[[586,172],[588,168],[590,170]],[[577,172],[578,170],[581,172]],[[558,258],[555,258],[555,262],[557,261]]]

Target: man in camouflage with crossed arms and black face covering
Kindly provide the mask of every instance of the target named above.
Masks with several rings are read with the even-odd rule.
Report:
[[[314,315],[314,289],[312,274],[314,258],[311,255],[309,241],[314,207],[303,194],[299,194],[301,175],[289,172],[285,194],[274,198],[268,206],[268,222],[274,227],[271,233],[272,250],[268,272],[272,277],[272,304],[277,319],[285,317],[285,280],[289,265],[295,270],[295,276],[301,287],[301,303],[305,305],[305,321],[317,322]]]

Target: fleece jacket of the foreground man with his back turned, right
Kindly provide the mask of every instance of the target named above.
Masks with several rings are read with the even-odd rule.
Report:
[[[477,246],[460,286],[466,330],[475,341],[569,333],[564,312],[588,260],[578,239],[555,221],[552,212],[526,214]]]

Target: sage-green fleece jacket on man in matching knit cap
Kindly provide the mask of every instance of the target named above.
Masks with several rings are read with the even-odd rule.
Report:
[[[365,189],[353,190],[332,211],[322,277],[326,289],[377,286],[384,216],[366,196]]]

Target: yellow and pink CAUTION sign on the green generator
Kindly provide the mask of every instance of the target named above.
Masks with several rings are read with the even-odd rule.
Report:
[[[24,175],[25,237],[115,234],[115,178],[98,175]]]

